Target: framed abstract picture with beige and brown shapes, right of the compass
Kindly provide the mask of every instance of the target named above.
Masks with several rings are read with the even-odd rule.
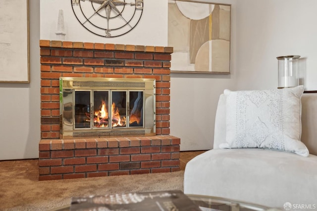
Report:
[[[230,74],[231,4],[168,0],[172,73]]]

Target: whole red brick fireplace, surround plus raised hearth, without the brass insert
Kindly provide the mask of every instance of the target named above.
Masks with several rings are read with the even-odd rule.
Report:
[[[178,171],[169,130],[173,48],[41,40],[39,180]],[[156,79],[156,135],[60,139],[59,77]]]

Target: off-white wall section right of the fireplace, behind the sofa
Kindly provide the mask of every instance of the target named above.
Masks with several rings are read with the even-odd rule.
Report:
[[[305,90],[317,90],[316,0],[217,2],[232,4],[231,74],[172,74],[171,134],[181,137],[182,151],[212,148],[216,104],[224,89],[276,88],[277,56],[301,55]],[[203,112],[196,116],[199,107]]]

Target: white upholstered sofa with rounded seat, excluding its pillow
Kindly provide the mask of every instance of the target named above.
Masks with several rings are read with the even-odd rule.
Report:
[[[295,208],[317,209],[317,94],[304,93],[301,104],[301,141],[309,150],[308,157],[259,148],[219,149],[226,140],[226,97],[222,94],[213,149],[187,163],[184,193],[274,208],[289,202]]]

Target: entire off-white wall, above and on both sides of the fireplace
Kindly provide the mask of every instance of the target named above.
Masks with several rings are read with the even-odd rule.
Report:
[[[123,37],[111,39],[87,34],[72,10],[69,12],[69,1],[41,0],[40,7],[40,0],[30,0],[31,83],[0,83],[0,160],[38,157],[39,40],[56,40],[59,9],[64,10],[68,41],[167,45],[167,0],[145,0],[145,12],[138,26]],[[277,87],[276,56],[301,55],[306,90],[317,90],[316,0],[211,2],[232,4],[231,74],[171,74],[170,133],[181,138],[182,151],[212,148],[215,109],[224,89]],[[18,127],[22,129],[17,131]]]

